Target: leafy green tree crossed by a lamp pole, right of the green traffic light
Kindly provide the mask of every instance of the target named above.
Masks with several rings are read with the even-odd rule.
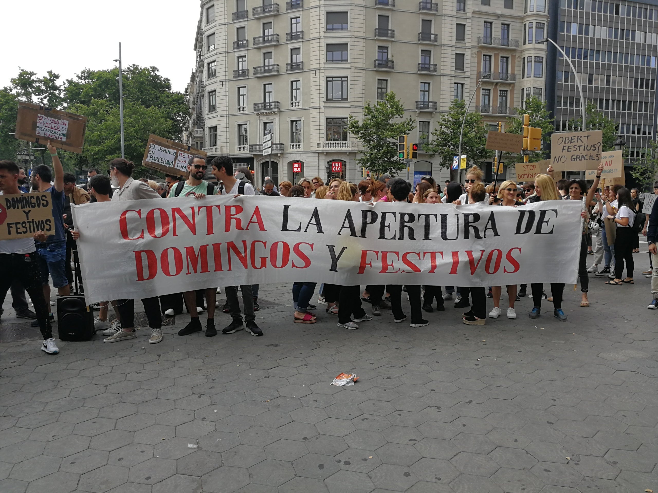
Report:
[[[453,156],[459,153],[459,133],[465,108],[464,101],[455,99],[447,113],[441,115],[436,128],[432,130],[430,141],[423,146],[424,151],[432,156],[436,154],[440,156],[443,168],[449,168]],[[469,112],[464,124],[461,153],[467,155],[468,161],[478,164],[493,156],[493,151],[484,149],[486,143],[487,129],[482,122],[482,116],[479,113]]]

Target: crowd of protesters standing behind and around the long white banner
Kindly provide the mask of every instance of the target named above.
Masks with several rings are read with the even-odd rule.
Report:
[[[390,176],[378,179],[363,179],[359,183],[350,183],[341,178],[330,179],[324,183],[321,177],[311,179],[303,177],[297,183],[282,181],[278,186],[270,177],[265,177],[262,189],[253,183],[249,169],[234,169],[228,156],[220,156],[208,164],[202,156],[194,156],[188,165],[188,178],[182,180],[177,176],[166,176],[164,182],[147,179],[133,179],[134,164],[123,158],[116,158],[109,164],[109,176],[98,170],[89,170],[87,187],[77,187],[75,177],[64,174],[56,150],[48,146],[53,156],[53,172],[48,166],[36,166],[32,170],[32,189],[50,193],[53,200],[55,216],[55,235],[45,237],[34,235],[34,239],[0,241],[0,295],[3,297],[11,288],[14,302],[17,303],[16,314],[24,318],[35,319],[33,325],[41,329],[43,335],[42,349],[49,354],[59,350],[53,339],[51,322],[53,314],[49,310],[50,288],[49,275],[58,293],[64,296],[70,293],[72,272],[70,269],[70,252],[75,249],[74,241],[80,233],[73,228],[70,220],[70,204],[85,202],[109,202],[122,200],[157,199],[176,197],[195,197],[203,199],[207,195],[262,195],[265,197],[296,197],[300,199],[347,200],[352,202],[391,202],[392,204],[415,203],[429,204],[490,204],[493,206],[519,207],[545,200],[580,200],[584,218],[582,240],[578,262],[578,278],[582,298],[580,306],[588,308],[589,273],[607,276],[607,285],[621,286],[634,283],[633,254],[639,252],[639,233],[647,237],[649,243],[649,262],[651,269],[643,274],[651,277],[652,300],[647,306],[658,308],[658,255],[655,242],[658,237],[658,202],[653,206],[649,217],[641,212],[638,190],[629,191],[615,185],[598,189],[601,174],[599,166],[594,183],[582,179],[561,179],[557,183],[549,174],[540,174],[534,181],[517,185],[515,181],[506,180],[499,185],[485,187],[482,182],[482,170],[473,166],[467,171],[465,183],[445,181],[440,190],[431,176],[424,176],[415,187],[408,181]],[[215,177],[218,186],[205,181],[207,170]],[[26,177],[22,170],[11,161],[0,162],[0,191],[2,193],[24,193]],[[658,182],[654,193],[658,193]],[[607,233],[606,233],[607,231]],[[593,256],[594,263],[586,266],[588,255]],[[624,276],[624,268],[626,275]],[[551,296],[547,296],[541,283],[531,284],[532,310],[530,318],[541,314],[542,300],[553,303],[553,314],[561,321],[567,321],[562,308],[564,284],[551,283]],[[314,312],[317,306],[311,303],[315,294],[316,283],[293,282],[293,321],[295,323],[316,323]],[[454,308],[467,309],[463,313],[463,322],[468,325],[484,325],[487,317],[495,319],[503,314],[501,308],[502,286],[488,287],[452,287],[429,285],[367,285],[365,291],[360,286],[343,286],[321,284],[318,289],[318,304],[326,306],[326,313],[338,317],[338,327],[358,329],[359,323],[381,317],[382,310],[391,310],[393,321],[402,323],[407,315],[402,308],[402,296],[406,293],[411,306],[411,327],[423,327],[430,322],[423,312],[434,310],[443,312],[448,300],[454,298]],[[20,293],[28,291],[35,312],[22,304]],[[229,314],[231,322],[222,329],[224,334],[246,330],[254,336],[263,335],[255,321],[255,312],[259,310],[259,285],[242,285],[224,287],[226,304],[222,311]],[[155,344],[163,340],[162,315],[182,314],[186,306],[190,322],[178,335],[186,336],[205,332],[206,337],[217,335],[215,327],[216,294],[220,287],[199,291],[169,294],[153,298],[143,298],[145,314],[151,328],[149,342]],[[240,307],[239,292],[242,298]],[[507,285],[507,318],[516,319],[515,302],[528,296],[526,285]],[[493,298],[493,308],[486,311],[486,298]],[[108,322],[108,309],[112,306],[116,321]],[[370,308],[370,314],[364,307]],[[205,311],[207,320],[205,331],[199,314]],[[244,320],[243,320],[244,317]],[[137,337],[134,328],[134,300],[108,300],[100,304],[99,316],[95,319],[95,328],[103,330],[107,336],[104,342],[118,342]]]

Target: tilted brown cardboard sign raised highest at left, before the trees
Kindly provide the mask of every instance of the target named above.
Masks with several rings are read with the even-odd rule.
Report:
[[[82,153],[87,117],[60,110],[46,109],[32,103],[18,103],[16,139]]]

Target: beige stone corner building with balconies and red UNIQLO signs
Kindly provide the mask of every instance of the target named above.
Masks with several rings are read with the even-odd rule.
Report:
[[[413,142],[429,138],[453,99],[473,93],[470,110],[493,127],[524,95],[544,97],[546,47],[522,36],[528,22],[545,29],[548,14],[545,0],[526,1],[534,9],[524,12],[521,0],[201,0],[184,139],[211,157],[232,156],[261,185],[270,157],[277,183],[361,179],[347,117],[360,118],[386,91],[417,120]],[[526,63],[532,74],[521,78]],[[414,172],[449,176],[424,153]]]

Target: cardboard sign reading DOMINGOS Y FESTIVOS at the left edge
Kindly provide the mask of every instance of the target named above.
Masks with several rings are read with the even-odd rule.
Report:
[[[0,195],[0,240],[31,238],[38,231],[55,234],[50,192]]]

